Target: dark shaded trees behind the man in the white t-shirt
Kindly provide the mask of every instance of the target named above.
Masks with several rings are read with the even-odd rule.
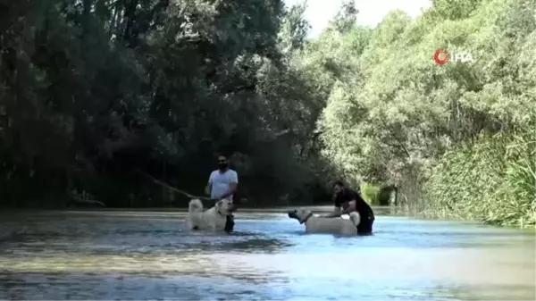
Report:
[[[163,205],[200,194],[217,154],[241,195],[308,199],[322,97],[289,63],[303,6],[281,0],[0,4],[2,205]],[[318,187],[318,188],[317,188]]]

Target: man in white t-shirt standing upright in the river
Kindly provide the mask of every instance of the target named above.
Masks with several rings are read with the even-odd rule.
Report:
[[[229,160],[224,155],[218,156],[218,169],[212,171],[206,184],[205,192],[210,194],[210,198],[218,201],[222,198],[232,200],[233,194],[239,186],[239,175],[237,171],[229,168]],[[231,231],[234,227],[234,216],[227,216],[225,230]]]

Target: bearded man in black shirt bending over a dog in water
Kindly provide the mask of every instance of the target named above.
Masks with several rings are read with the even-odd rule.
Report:
[[[333,201],[335,202],[335,211],[322,217],[340,217],[342,214],[356,212],[361,217],[361,222],[357,226],[357,234],[365,235],[373,233],[373,208],[366,204],[359,193],[346,188],[344,183],[338,180],[333,184]]]

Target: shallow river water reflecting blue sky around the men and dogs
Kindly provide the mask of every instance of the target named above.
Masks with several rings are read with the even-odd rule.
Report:
[[[536,296],[531,231],[379,215],[370,237],[306,235],[283,211],[240,211],[235,232],[216,235],[186,232],[184,215],[0,213],[0,300]]]

